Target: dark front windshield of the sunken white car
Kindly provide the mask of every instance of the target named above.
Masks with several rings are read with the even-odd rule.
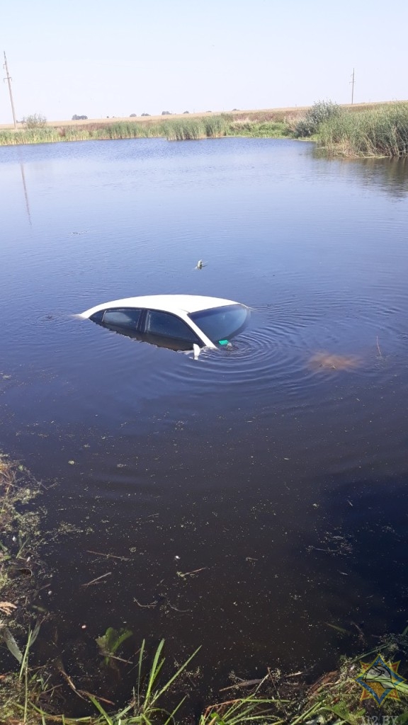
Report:
[[[212,307],[211,310],[191,312],[189,318],[214,344],[225,344],[237,335],[249,319],[249,310],[243,305]]]

